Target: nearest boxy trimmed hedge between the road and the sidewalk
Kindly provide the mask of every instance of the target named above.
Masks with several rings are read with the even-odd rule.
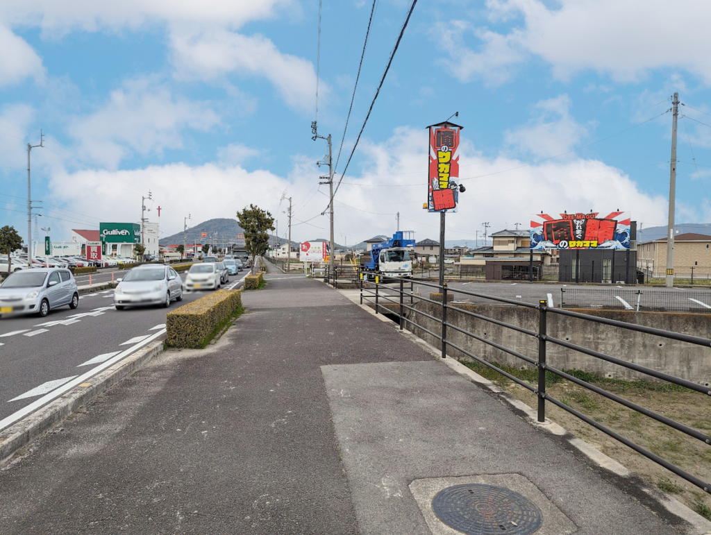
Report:
[[[166,314],[166,345],[200,348],[242,308],[241,290],[208,293]]]

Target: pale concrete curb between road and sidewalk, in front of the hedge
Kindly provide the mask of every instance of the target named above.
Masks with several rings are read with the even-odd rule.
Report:
[[[71,389],[50,404],[2,431],[0,433],[0,466],[10,460],[18,450],[50,431],[77,409],[89,404],[97,396],[113,387],[124,377],[133,374],[143,364],[162,352],[163,342],[164,336],[146,347],[141,347],[137,352],[89,379],[91,381],[89,387],[77,386]]]

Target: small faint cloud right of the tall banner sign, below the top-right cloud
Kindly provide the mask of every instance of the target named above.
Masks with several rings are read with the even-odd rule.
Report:
[[[538,117],[514,131],[506,132],[506,143],[523,153],[544,158],[569,151],[587,136],[587,129],[570,115],[570,97],[541,100],[535,105]]]

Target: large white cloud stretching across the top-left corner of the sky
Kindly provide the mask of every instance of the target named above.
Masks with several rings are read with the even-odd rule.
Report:
[[[117,32],[164,25],[178,77],[215,80],[231,72],[262,77],[289,106],[310,109],[316,92],[314,65],[280,52],[264,36],[235,32],[249,21],[273,17],[278,9],[288,8],[298,9],[298,4],[293,0],[0,1],[0,12],[9,26],[38,26],[44,38],[70,31]],[[0,85],[42,74],[34,50],[0,26]],[[322,91],[325,96],[325,85]]]

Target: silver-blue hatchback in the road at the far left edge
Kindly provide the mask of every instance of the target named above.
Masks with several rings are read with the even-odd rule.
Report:
[[[39,314],[69,305],[79,306],[79,291],[68,269],[36,268],[16,271],[0,284],[0,315]]]

